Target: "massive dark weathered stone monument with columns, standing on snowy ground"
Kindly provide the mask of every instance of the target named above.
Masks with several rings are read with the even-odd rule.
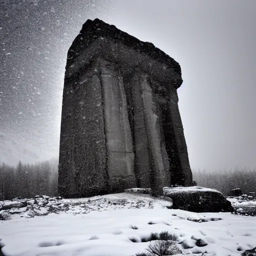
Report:
[[[179,64],[99,19],[67,53],[58,192],[64,197],[192,185],[178,110]]]

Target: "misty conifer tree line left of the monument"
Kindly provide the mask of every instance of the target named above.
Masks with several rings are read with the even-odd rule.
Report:
[[[0,200],[30,198],[37,194],[56,196],[58,159],[24,164],[16,167],[0,165]]]

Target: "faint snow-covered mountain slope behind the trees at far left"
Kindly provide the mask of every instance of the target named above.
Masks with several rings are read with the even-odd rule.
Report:
[[[40,151],[31,144],[18,141],[16,138],[0,132],[0,163],[16,165],[19,160],[23,163],[35,163],[47,160],[51,156]]]

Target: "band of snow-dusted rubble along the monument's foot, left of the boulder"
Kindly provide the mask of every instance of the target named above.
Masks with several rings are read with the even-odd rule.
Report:
[[[49,197],[38,195],[29,199],[0,201],[0,220],[7,220],[15,216],[30,218],[48,215],[49,213],[83,214],[90,211],[104,211],[123,208],[152,209],[159,203],[161,207],[170,208],[171,201],[155,198],[148,194],[117,193],[86,198],[64,199],[62,197]]]

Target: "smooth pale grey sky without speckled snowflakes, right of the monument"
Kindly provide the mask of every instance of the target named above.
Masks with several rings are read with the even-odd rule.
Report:
[[[191,168],[256,167],[256,2],[117,1],[107,19],[181,65]]]

